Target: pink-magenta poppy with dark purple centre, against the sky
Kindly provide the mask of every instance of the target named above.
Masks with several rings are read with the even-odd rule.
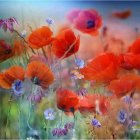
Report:
[[[93,36],[98,35],[102,25],[102,18],[94,9],[73,10],[67,17],[76,29]]]

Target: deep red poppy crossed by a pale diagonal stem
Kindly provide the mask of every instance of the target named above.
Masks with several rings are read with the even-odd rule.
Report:
[[[76,38],[71,29],[66,29],[57,35],[52,45],[52,51],[58,58],[66,58],[76,53],[79,45],[80,38]]]

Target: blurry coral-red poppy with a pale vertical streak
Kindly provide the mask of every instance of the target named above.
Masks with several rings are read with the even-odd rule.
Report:
[[[107,97],[99,94],[89,94],[81,98],[79,101],[79,111],[83,113],[99,113],[106,114],[110,108]]]

